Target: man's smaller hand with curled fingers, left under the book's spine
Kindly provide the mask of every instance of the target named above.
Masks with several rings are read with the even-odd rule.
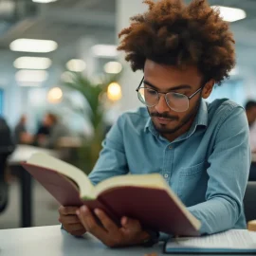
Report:
[[[64,229],[72,235],[80,236],[86,232],[80,219],[76,214],[77,207],[63,207],[59,208],[59,222],[62,223]]]

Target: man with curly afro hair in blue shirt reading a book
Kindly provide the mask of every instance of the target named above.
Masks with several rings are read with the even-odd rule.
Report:
[[[146,107],[123,114],[111,128],[90,179],[162,174],[201,221],[202,234],[245,229],[247,117],[232,101],[204,101],[235,64],[229,26],[204,0],[145,2],[149,10],[120,32],[119,50],[134,71],[144,71],[137,96]],[[129,216],[118,228],[102,210],[94,213],[103,227],[85,207],[59,212],[68,232],[88,231],[108,247],[149,246],[162,238]]]

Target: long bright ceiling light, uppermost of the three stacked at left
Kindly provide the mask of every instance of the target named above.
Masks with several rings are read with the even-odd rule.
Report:
[[[50,52],[56,50],[58,44],[51,40],[37,40],[37,39],[17,39],[10,43],[9,48],[12,51],[26,51],[26,52]]]

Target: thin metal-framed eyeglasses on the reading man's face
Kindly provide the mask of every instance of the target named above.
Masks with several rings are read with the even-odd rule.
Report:
[[[184,94],[175,93],[175,92],[168,92],[168,93],[159,93],[151,88],[140,87],[144,78],[139,83],[137,87],[137,98],[141,101],[144,105],[148,107],[154,107],[160,100],[160,94],[164,95],[165,101],[167,105],[174,110],[175,112],[185,112],[190,107],[190,101],[192,98],[198,94],[203,87],[200,87],[196,92],[192,94],[192,96],[188,97]]]

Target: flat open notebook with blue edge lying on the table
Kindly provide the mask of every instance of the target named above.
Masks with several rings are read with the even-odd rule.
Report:
[[[192,254],[253,254],[256,255],[256,232],[230,229],[202,237],[172,238],[165,245],[165,253]]]

